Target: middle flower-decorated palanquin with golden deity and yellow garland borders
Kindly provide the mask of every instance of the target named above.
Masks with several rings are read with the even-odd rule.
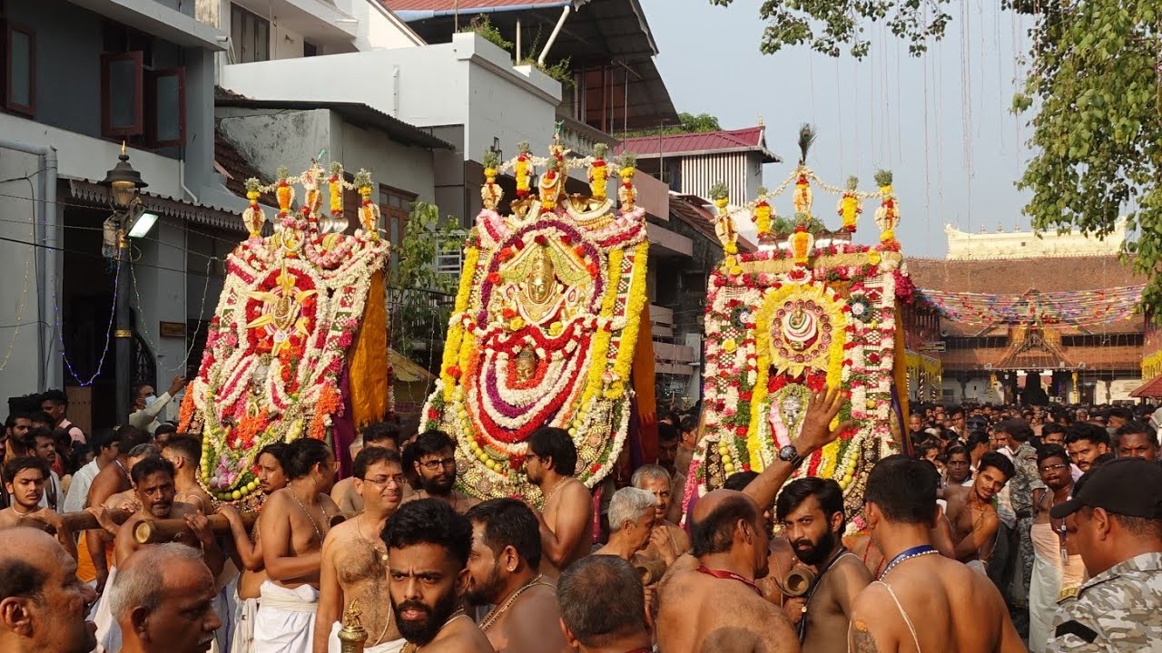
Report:
[[[632,158],[617,165],[617,202],[607,193],[610,167],[603,152],[574,158],[559,143],[545,158],[526,144],[504,164],[485,158],[483,210],[423,414],[424,429],[456,438],[464,491],[539,498],[523,464],[541,426],[568,431],[576,476],[593,486],[617,462],[634,379],[648,379],[652,403],[653,359],[637,351],[640,331],[650,342],[645,210],[634,204]],[[569,168],[588,168],[590,196],[566,195]],[[508,215],[497,211],[503,172],[516,179]]]

